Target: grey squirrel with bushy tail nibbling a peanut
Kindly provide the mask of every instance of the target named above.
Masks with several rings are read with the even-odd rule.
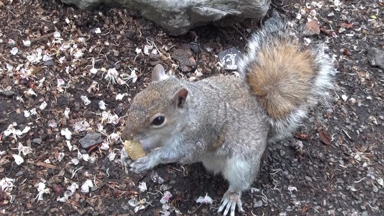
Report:
[[[148,154],[131,161],[123,148],[121,163],[140,173],[159,164],[202,162],[229,182],[218,212],[243,212],[241,195],[255,181],[266,145],[289,136],[310,107],[331,98],[331,58],[296,36],[302,33],[292,34],[283,21],[263,26],[248,42],[240,77],[189,82],[156,65],[122,131]]]

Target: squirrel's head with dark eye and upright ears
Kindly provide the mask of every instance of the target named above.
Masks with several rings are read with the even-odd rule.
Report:
[[[124,140],[140,141],[148,151],[178,136],[188,118],[188,90],[183,81],[166,75],[158,64],[151,83],[133,98],[128,111]]]

